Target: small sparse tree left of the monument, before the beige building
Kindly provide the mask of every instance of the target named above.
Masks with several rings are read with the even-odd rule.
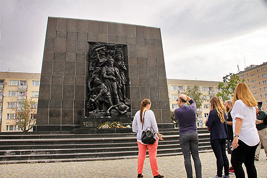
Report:
[[[18,125],[23,132],[28,132],[36,124],[37,102],[28,99],[24,100],[20,106],[15,108],[16,125]]]

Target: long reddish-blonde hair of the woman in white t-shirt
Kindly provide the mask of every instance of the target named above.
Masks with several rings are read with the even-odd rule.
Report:
[[[236,100],[242,100],[247,106],[255,107],[258,105],[256,99],[254,99],[252,93],[249,91],[246,83],[239,83],[235,88],[235,94],[233,98],[233,104]]]

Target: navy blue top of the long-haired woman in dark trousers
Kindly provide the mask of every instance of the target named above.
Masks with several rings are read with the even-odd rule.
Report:
[[[225,122],[222,123],[217,110],[213,109],[209,112],[206,126],[210,127],[210,141],[218,138],[227,138],[227,116],[224,112]]]

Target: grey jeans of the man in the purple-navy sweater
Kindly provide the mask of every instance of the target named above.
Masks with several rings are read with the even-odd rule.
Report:
[[[185,170],[187,178],[193,178],[191,155],[195,164],[196,177],[202,178],[201,161],[198,154],[198,133],[183,133],[180,135],[179,142],[185,159]]]

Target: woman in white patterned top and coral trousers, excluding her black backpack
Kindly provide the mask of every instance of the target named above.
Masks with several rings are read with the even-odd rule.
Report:
[[[150,99],[144,99],[141,102],[141,109],[137,111],[133,119],[133,132],[137,132],[137,143],[138,143],[138,160],[137,160],[137,172],[138,178],[143,178],[143,167],[146,150],[148,148],[150,166],[154,178],[163,178],[163,175],[159,174],[159,168],[157,163],[157,148],[159,139],[163,140],[163,135],[159,133],[157,121],[154,112],[150,110],[151,101]],[[156,142],[154,144],[144,144],[141,140],[142,132],[147,127],[151,127],[157,134]]]

